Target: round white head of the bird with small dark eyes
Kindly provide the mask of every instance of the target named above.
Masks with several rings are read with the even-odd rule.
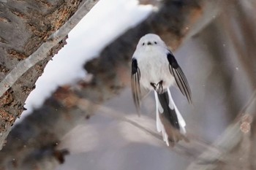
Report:
[[[157,34],[146,34],[140,38],[137,48],[148,48],[154,46],[166,47],[165,42]]]

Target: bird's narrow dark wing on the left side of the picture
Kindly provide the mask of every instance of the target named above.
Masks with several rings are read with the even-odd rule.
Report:
[[[135,102],[135,107],[138,114],[140,114],[140,69],[138,68],[138,62],[136,58],[132,58],[132,96]]]

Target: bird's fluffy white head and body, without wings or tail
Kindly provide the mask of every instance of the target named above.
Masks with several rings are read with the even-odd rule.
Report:
[[[147,45],[148,42],[157,42],[157,45]],[[159,82],[160,80],[166,81],[163,88],[173,85],[175,80],[170,75],[167,53],[165,42],[155,34],[146,34],[138,42],[132,58],[136,58],[140,65],[140,85],[144,88],[154,90],[150,82]]]

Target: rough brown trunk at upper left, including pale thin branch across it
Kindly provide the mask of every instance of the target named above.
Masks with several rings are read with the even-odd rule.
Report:
[[[0,1],[0,149],[45,65],[66,44],[68,32],[96,3]],[[81,7],[83,12],[71,18]]]

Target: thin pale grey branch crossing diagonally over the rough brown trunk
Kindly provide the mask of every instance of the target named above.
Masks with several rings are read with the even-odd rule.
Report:
[[[97,4],[99,0],[86,0],[80,5],[79,9],[72,15],[69,20],[64,23],[58,31],[52,34],[46,42],[44,42],[34,53],[32,53],[28,58],[24,61],[20,61],[17,66],[15,66],[12,71],[4,77],[4,80],[0,82],[0,96],[10,88],[14,83],[24,74],[26,73],[32,66],[34,66],[39,61],[47,58],[47,53],[51,48],[56,46],[62,39],[64,39],[69,31],[74,28],[78,22],[85,16],[95,4]]]

